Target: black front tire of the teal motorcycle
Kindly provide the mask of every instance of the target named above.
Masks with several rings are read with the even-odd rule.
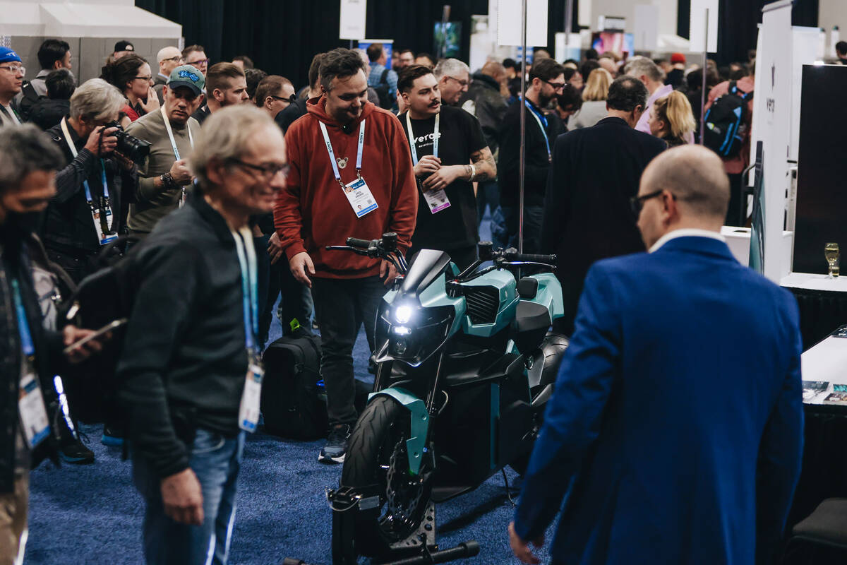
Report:
[[[355,488],[379,485],[379,509],[359,512],[357,515],[354,543],[359,555],[384,555],[390,550],[391,544],[405,540],[418,529],[429,506],[432,492],[431,458],[424,457],[421,473],[416,479],[408,479],[410,475],[407,473],[405,451],[408,436],[409,411],[390,396],[377,396],[368,403],[352,431],[341,471],[341,486]],[[392,456],[394,463],[391,462]],[[395,466],[393,474],[390,472],[392,464]],[[395,488],[398,481],[418,483],[399,495],[396,490],[392,490],[395,501],[399,497],[409,502],[417,496],[413,506],[406,508],[407,516],[391,512],[389,475],[392,476]]]

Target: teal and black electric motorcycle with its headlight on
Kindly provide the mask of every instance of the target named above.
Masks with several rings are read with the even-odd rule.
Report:
[[[327,493],[336,564],[428,552],[434,502],[507,465],[523,473],[567,348],[548,333],[563,313],[555,255],[483,242],[460,273],[441,251],[407,264],[396,241],[327,247],[386,259],[401,274],[377,313],[374,392],[352,429],[340,488]],[[518,269],[537,272],[518,278]]]

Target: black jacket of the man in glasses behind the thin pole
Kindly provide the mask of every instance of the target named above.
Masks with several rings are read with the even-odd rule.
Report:
[[[529,102],[532,103],[532,102]],[[544,135],[535,121],[532,112],[518,100],[509,106],[500,128],[500,163],[497,163],[497,179],[500,186],[500,202],[503,206],[517,207],[520,199],[520,145],[521,110],[527,114],[526,123],[526,169],[523,185],[523,202],[526,206],[543,206],[547,189],[547,171],[550,170],[550,158]],[[550,130],[551,120],[547,120],[547,132],[550,148],[556,139]]]

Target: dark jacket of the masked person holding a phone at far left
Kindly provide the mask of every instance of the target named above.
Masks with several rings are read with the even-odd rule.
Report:
[[[23,351],[14,312],[13,279],[19,281],[26,319],[36,350],[36,371],[53,432],[36,448],[37,452],[30,454],[30,458],[33,463],[40,461],[43,455],[49,455],[55,460],[58,452],[57,424],[61,416],[53,387],[53,375],[64,369],[64,344],[59,332],[44,330],[42,327],[41,308],[32,281],[31,246],[38,244],[25,231],[8,224],[0,227],[0,324],[3,329],[0,332],[0,374],[3,375],[3,385],[0,385],[0,493],[14,490],[15,440],[20,434],[18,389]]]

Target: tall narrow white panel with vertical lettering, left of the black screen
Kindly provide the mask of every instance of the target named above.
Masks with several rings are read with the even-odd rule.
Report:
[[[789,186],[793,76],[791,0],[768,4],[761,11],[756,96],[753,98],[754,130],[761,139],[762,147],[760,249],[764,253],[763,274],[778,283],[787,274],[783,273],[779,250],[785,218],[785,191]]]

